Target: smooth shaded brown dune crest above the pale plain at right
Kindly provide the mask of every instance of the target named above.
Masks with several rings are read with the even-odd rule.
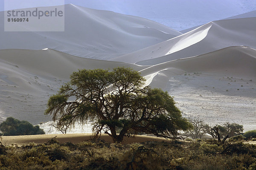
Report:
[[[143,69],[140,73],[142,75],[152,74],[169,68],[171,70],[176,68],[176,70],[179,69],[184,72],[233,74],[247,78],[256,77],[256,50],[245,46],[227,47],[196,57],[153,65]]]

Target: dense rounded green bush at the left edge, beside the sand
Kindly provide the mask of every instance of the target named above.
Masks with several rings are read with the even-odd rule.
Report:
[[[0,124],[0,130],[3,136],[17,136],[17,135],[38,135],[45,134],[43,129],[38,125],[33,126],[28,121],[20,121],[13,117],[8,117]]]

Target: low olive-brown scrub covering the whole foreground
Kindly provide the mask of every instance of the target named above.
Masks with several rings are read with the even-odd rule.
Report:
[[[0,145],[1,170],[255,170],[256,145],[198,141],[84,141]]]

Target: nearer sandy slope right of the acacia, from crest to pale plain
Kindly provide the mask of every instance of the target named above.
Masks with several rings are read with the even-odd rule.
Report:
[[[187,118],[206,123],[256,126],[256,50],[228,47],[208,54],[153,65],[149,85],[174,96]]]

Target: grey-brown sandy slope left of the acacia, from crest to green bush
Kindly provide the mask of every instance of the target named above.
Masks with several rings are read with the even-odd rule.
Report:
[[[49,121],[44,116],[47,100],[70,74],[78,69],[145,67],[133,64],[86,59],[48,50],[0,50],[0,118],[8,116],[33,124]]]

